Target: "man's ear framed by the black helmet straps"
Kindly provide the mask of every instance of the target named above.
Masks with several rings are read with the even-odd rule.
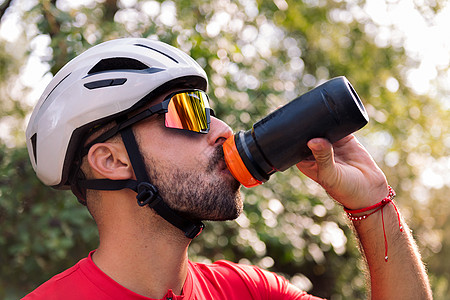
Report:
[[[88,153],[88,161],[94,176],[112,180],[134,178],[128,153],[122,143],[97,143]]]

